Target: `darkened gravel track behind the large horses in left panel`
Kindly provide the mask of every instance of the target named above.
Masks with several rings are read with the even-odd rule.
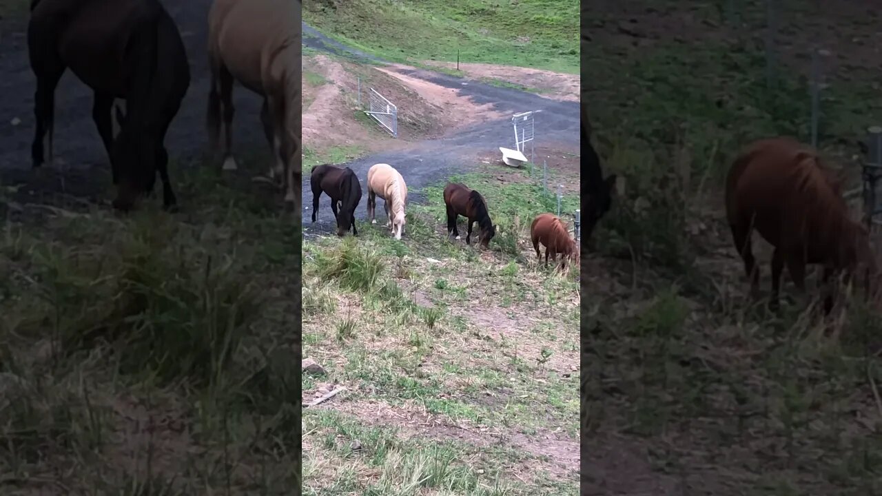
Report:
[[[171,128],[166,147],[178,166],[191,165],[206,144],[205,113],[209,74],[206,64],[208,9],[211,0],[177,2],[163,0],[176,20],[190,59],[191,86]],[[41,181],[31,171],[31,141],[34,139],[34,73],[27,57],[26,19],[0,22],[0,181],[30,184],[37,192],[57,188],[60,181]],[[258,96],[235,86],[234,151],[266,147],[260,132]],[[92,120],[92,92],[71,71],[56,89],[56,161],[69,168],[66,192],[93,196],[109,184],[108,158]],[[11,124],[17,119],[18,125]],[[268,153],[268,152],[267,152]],[[97,166],[101,176],[84,174]],[[175,181],[174,165],[169,170]],[[41,175],[42,176],[42,175]],[[38,184],[41,183],[41,184]],[[182,203],[186,199],[181,199]]]

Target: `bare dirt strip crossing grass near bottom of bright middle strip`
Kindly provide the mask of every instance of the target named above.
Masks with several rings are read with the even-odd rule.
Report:
[[[564,432],[540,431],[527,436],[472,425],[464,420],[454,424],[451,419],[431,414],[413,402],[391,406],[385,402],[344,400],[328,402],[316,408],[340,411],[361,419],[365,425],[398,428],[404,439],[460,440],[475,447],[507,447],[548,458],[548,461],[517,462],[511,467],[524,476],[534,474],[537,465],[539,469],[562,479],[572,477],[579,470],[579,440],[571,439]]]

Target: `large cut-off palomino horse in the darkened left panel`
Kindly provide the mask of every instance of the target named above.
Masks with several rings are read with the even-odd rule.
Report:
[[[270,177],[285,187],[285,201],[301,198],[300,1],[214,0],[208,13],[208,60],[212,72],[207,128],[217,149],[224,124],[223,169],[236,169],[231,151],[233,81],[263,97],[260,120],[273,152]]]

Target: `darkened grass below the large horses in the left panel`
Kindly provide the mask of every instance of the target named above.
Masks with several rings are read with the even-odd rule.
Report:
[[[156,200],[117,216],[61,199],[0,232],[4,485],[299,484],[298,223],[278,192],[228,185],[253,171],[172,167],[180,214]]]

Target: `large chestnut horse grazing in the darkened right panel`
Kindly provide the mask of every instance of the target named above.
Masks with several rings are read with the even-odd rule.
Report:
[[[871,278],[875,279],[878,269],[867,229],[851,220],[839,184],[811,147],[789,138],[751,143],[729,169],[726,215],[753,297],[759,296],[759,268],[751,249],[753,229],[774,246],[772,309],[778,308],[785,266],[801,291],[808,264],[824,267],[825,283],[833,274],[844,273],[850,279],[863,270],[871,294]],[[824,312],[832,309],[833,293],[828,292]]]

